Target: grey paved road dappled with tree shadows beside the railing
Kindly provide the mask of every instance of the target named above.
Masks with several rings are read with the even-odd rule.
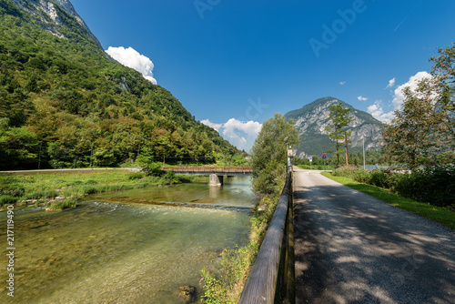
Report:
[[[297,303],[455,303],[455,234],[296,169]]]

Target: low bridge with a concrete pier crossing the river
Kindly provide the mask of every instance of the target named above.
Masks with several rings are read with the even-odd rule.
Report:
[[[209,176],[208,186],[223,186],[223,177],[246,176],[253,172],[251,167],[182,167],[167,166],[163,171],[172,171],[177,175],[205,175]]]

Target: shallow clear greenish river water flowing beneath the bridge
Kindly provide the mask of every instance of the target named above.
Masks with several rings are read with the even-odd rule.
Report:
[[[241,181],[217,188],[155,187],[157,198],[150,198],[151,188],[132,192],[139,200],[252,206],[248,184]],[[127,199],[128,192],[115,196]],[[246,212],[90,199],[63,212],[15,211],[15,299],[2,292],[0,302],[181,303],[178,286],[200,290],[200,269],[217,260],[223,248],[248,242]],[[2,223],[5,216],[2,212]],[[4,230],[0,243],[6,243]],[[5,258],[1,262],[7,265]],[[3,290],[6,275],[0,272]]]

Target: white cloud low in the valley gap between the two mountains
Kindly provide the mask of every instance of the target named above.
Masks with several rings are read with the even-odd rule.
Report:
[[[254,144],[262,125],[257,121],[250,120],[243,122],[236,118],[230,118],[224,124],[215,124],[208,119],[201,120],[201,123],[213,127],[232,145],[241,150],[248,151]]]

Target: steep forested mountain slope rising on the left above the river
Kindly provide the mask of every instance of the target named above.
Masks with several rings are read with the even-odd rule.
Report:
[[[241,153],[107,56],[67,0],[0,0],[0,169]]]

